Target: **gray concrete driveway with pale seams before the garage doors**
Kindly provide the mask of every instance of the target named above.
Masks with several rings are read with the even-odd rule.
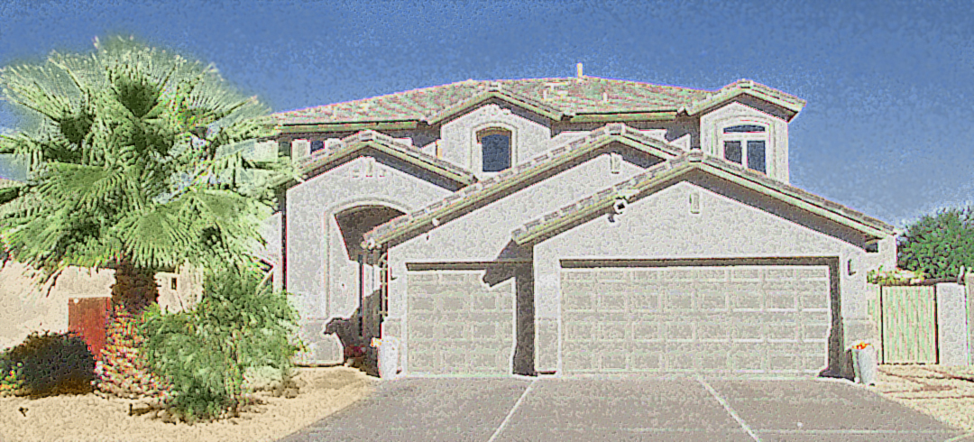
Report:
[[[962,431],[846,381],[400,379],[297,441],[945,441]]]

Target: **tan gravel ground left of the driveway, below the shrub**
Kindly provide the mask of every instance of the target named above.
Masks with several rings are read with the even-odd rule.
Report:
[[[169,424],[160,411],[147,412],[135,400],[95,394],[0,397],[0,442],[275,441],[351,405],[378,382],[348,367],[298,372],[296,396],[258,391],[252,395],[258,403],[240,418],[193,425]]]

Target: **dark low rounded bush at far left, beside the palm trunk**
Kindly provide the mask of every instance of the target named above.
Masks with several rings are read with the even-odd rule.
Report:
[[[22,386],[34,397],[92,391],[94,354],[74,333],[31,333],[4,359],[8,388]]]

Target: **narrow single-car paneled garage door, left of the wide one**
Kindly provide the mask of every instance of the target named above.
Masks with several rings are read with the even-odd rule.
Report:
[[[407,370],[505,375],[514,349],[514,279],[493,287],[484,271],[407,273]]]

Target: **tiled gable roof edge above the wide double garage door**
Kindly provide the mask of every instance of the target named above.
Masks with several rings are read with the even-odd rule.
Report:
[[[575,223],[609,210],[618,198],[636,201],[658,190],[658,185],[685,175],[693,170],[730,180],[747,189],[757,191],[773,199],[788,203],[835,221],[866,235],[884,237],[895,233],[893,226],[866,216],[839,203],[833,203],[805,192],[797,187],[773,180],[766,175],[741,167],[726,160],[704,155],[694,150],[678,158],[650,167],[617,185],[604,189],[576,203],[532,220],[511,233],[517,244],[544,239]],[[674,181],[675,182],[675,181]],[[569,227],[570,228],[570,227]]]

